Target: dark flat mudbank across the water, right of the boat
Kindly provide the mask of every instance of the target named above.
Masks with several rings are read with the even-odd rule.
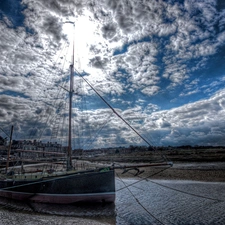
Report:
[[[192,148],[171,149],[166,151],[135,151],[125,154],[97,156],[92,162],[103,162],[116,165],[141,165],[152,163],[161,156],[173,162],[173,166],[143,167],[138,170],[117,169],[121,178],[139,176],[141,178],[168,180],[196,180],[225,182],[225,149]]]

